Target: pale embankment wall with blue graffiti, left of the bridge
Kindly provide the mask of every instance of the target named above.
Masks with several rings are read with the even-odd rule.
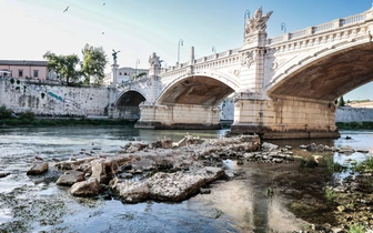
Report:
[[[56,82],[0,79],[0,105],[16,113],[49,115],[104,115],[107,88],[67,87]]]

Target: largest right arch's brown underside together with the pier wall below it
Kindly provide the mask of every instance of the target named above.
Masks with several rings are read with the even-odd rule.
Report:
[[[265,122],[266,133],[289,132],[294,138],[337,136],[334,102],[373,81],[372,51],[373,43],[365,43],[314,53],[310,63],[286,64],[289,69],[273,77],[266,89],[273,101],[271,121]]]

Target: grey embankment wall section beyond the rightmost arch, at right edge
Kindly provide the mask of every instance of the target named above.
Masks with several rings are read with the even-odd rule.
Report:
[[[342,107],[335,112],[336,122],[373,122],[373,109]]]

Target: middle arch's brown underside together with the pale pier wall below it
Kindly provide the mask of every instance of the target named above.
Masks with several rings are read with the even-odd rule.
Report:
[[[229,85],[229,84],[231,85]],[[222,101],[235,85],[222,77],[183,77],[164,87],[155,105],[141,105],[137,128],[221,129]]]

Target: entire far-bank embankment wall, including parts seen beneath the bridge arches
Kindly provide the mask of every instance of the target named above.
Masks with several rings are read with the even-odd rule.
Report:
[[[0,79],[0,105],[16,113],[32,111],[36,114],[107,115],[109,90],[105,87],[67,87],[56,82]],[[221,121],[233,121],[233,99],[221,104]],[[339,108],[336,122],[373,122],[373,109]]]

